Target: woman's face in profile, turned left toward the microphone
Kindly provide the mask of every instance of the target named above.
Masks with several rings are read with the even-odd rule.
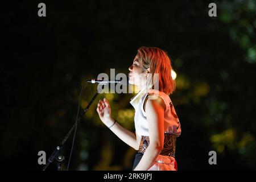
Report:
[[[138,55],[135,56],[133,64],[129,67],[129,84],[142,88],[146,84],[146,71],[143,72]]]

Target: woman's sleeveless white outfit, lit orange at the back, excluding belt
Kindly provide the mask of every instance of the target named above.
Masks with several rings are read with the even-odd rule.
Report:
[[[174,105],[172,104],[171,98],[164,92],[150,89],[142,89],[131,101],[130,104],[133,105],[135,109],[134,123],[135,131],[138,136],[149,136],[148,133],[148,123],[146,113],[144,111],[144,101],[148,94],[159,96],[163,99],[166,104],[166,110],[164,111],[164,132],[176,135],[179,137],[181,134],[181,126],[179,118],[177,117]],[[150,99],[150,98],[148,98]],[[135,168],[141,160],[143,154],[137,154],[134,160]],[[153,166],[151,166],[148,171],[176,171],[177,163],[174,157],[166,155],[158,155]]]

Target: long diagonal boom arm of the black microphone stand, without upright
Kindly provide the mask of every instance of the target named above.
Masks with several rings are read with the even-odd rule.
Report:
[[[82,111],[80,117],[77,119],[77,123],[75,122],[74,125],[72,126],[72,128],[69,130],[68,134],[66,135],[66,137],[62,140],[62,142],[60,143],[59,146],[56,147],[56,149],[52,152],[51,156],[49,156],[48,160],[47,160],[47,164],[46,166],[43,167],[42,171],[45,171],[46,168],[49,166],[50,163],[53,162],[54,159],[56,159],[59,154],[60,154],[60,150],[63,147],[64,143],[67,141],[67,139],[69,138],[69,136],[71,135],[72,131],[75,130],[76,124],[78,124],[82,117],[84,116],[84,114],[86,113],[86,111],[88,111],[90,105],[92,105],[93,101],[95,100],[95,98],[98,96],[98,94],[101,92],[102,88],[100,87],[97,92],[94,94],[92,100],[90,100],[89,104],[86,106],[86,108]]]

